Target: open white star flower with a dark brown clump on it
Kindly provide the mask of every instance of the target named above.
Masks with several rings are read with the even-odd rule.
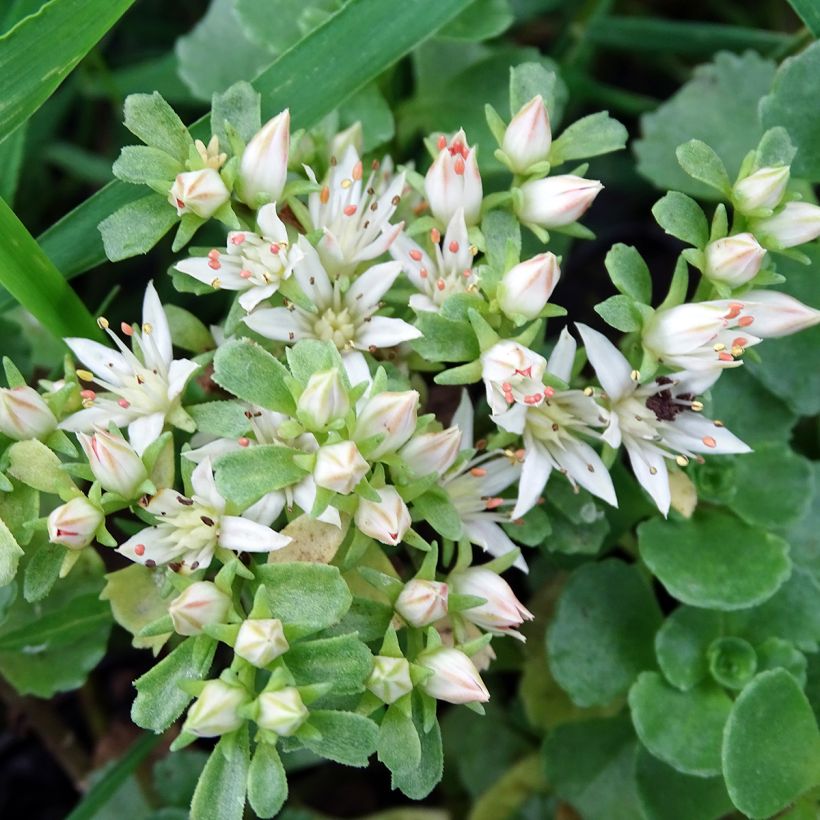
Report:
[[[635,477],[664,515],[671,502],[666,459],[685,465],[701,453],[749,452],[720,422],[693,410],[695,396],[714,383],[719,370],[675,373],[640,384],[605,336],[586,325],[578,330],[610,408],[603,437],[612,447],[623,443]]]

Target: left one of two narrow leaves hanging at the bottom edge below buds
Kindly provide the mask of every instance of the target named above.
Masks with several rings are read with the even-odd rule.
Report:
[[[250,765],[248,730],[219,739],[199,776],[191,820],[242,820]]]

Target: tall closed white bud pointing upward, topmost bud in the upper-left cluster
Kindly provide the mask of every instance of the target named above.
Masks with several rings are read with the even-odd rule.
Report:
[[[237,193],[239,198],[258,208],[276,202],[288,177],[290,112],[285,109],[257,131],[242,152]]]

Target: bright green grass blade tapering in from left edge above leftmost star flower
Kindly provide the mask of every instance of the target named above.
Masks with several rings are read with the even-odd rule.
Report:
[[[4,199],[0,237],[0,285],[55,336],[98,338],[85,305]]]

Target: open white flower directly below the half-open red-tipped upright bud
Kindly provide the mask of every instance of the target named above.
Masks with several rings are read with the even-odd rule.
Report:
[[[437,311],[448,296],[471,292],[478,281],[473,271],[475,248],[467,237],[463,208],[453,214],[443,242],[437,228],[430,235],[434,257],[404,233],[390,246],[390,255],[402,263],[407,277],[419,291],[410,297],[410,307],[417,313]]]

